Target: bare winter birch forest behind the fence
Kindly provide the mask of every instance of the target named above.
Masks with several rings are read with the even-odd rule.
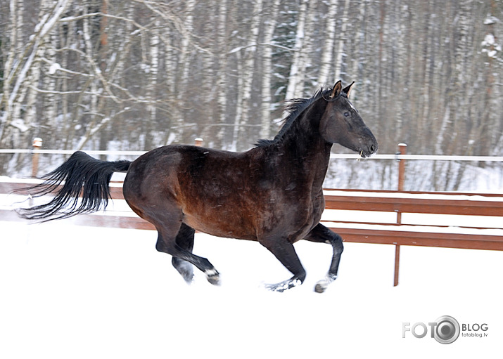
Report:
[[[355,81],[379,152],[502,155],[500,0],[8,0],[0,148],[247,150]],[[337,152],[343,151],[340,146]],[[6,167],[0,157],[0,169]]]

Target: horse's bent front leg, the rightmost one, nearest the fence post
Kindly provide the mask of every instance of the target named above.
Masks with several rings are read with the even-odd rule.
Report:
[[[334,233],[333,231],[329,230],[329,228],[326,228],[322,224],[318,223],[318,225],[314,227],[310,233],[308,233],[307,237],[305,237],[305,240],[317,243],[324,242],[332,245],[333,255],[329,273],[326,273],[325,278],[319,280],[314,287],[315,292],[323,293],[325,292],[326,288],[329,287],[331,282],[333,282],[337,278],[340,255],[344,250],[343,239],[337,233]]]

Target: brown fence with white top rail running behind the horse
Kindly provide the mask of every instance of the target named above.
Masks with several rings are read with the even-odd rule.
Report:
[[[406,155],[399,145],[396,155],[374,155],[376,159],[397,159],[399,171],[396,191],[325,190],[326,211],[322,223],[339,233],[346,242],[395,245],[395,277],[398,284],[400,246],[448,247],[503,250],[503,195],[460,192],[411,192],[403,190],[407,159],[503,162],[503,157]],[[59,150],[0,150],[0,153],[32,153],[33,174],[37,174],[38,154],[71,154]],[[139,151],[86,151],[89,155],[141,155]],[[358,155],[332,155],[334,158],[358,158]],[[24,188],[37,180],[0,177],[0,197]],[[113,180],[114,181],[114,180]],[[82,226],[105,226],[154,230],[125,204],[122,183],[110,183],[113,208],[98,214],[76,216]],[[425,218],[424,216],[430,216]],[[431,223],[431,217],[435,220]],[[446,218],[457,217],[448,224]],[[440,218],[440,223],[439,219]],[[20,220],[12,208],[0,207],[0,220]]]

